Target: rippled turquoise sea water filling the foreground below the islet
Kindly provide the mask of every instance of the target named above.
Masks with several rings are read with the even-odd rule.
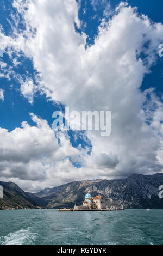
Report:
[[[163,245],[163,210],[0,211],[0,245]]]

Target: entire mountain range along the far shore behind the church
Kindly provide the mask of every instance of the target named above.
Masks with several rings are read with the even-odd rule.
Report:
[[[101,194],[108,206],[123,204],[124,208],[163,209],[163,199],[158,196],[159,186],[163,185],[163,173],[132,174],[118,180],[74,181],[38,193],[24,192],[13,182],[0,181],[0,185],[4,192],[0,209],[70,208],[75,200],[77,205],[81,205],[89,190],[92,197]]]

